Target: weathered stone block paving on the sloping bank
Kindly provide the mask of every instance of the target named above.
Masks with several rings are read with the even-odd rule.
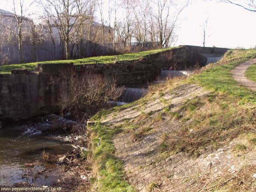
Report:
[[[158,113],[172,104],[172,110],[175,111],[187,99],[204,96],[208,93],[195,84],[183,85],[166,93],[163,96],[166,102],[161,102],[158,98],[154,102],[137,104],[137,106],[118,113],[109,114],[102,119],[102,122],[114,126],[122,124],[125,119],[135,119],[141,114],[137,110],[138,108],[145,113],[150,111]],[[186,123],[188,124],[189,121]],[[123,160],[129,182],[141,192],[145,192],[151,182],[160,185],[160,189],[156,189],[158,191],[193,191],[193,188],[198,187],[198,180],[201,180],[202,174],[203,176],[210,174],[212,177],[218,177],[224,169],[229,169],[230,172],[238,170],[244,163],[252,163],[253,160],[250,162],[248,159],[253,159],[253,155],[256,155],[255,152],[245,154],[245,156],[247,155],[246,160],[236,157],[232,151],[232,145],[236,143],[234,141],[217,151],[204,152],[196,159],[184,153],[163,157],[159,151],[160,145],[163,143],[163,134],[169,134],[184,124],[180,125],[179,122],[164,119],[150,124],[150,126],[152,130],[141,139],[134,140],[134,136],[130,132],[122,132],[113,140],[116,148],[115,155]]]

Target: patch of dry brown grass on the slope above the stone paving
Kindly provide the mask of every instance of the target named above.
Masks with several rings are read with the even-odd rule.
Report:
[[[169,155],[186,152],[198,157],[200,150],[215,150],[239,134],[254,131],[255,108],[237,105],[224,95],[216,95],[214,100],[209,97],[189,100],[178,111],[170,113],[172,116],[182,114],[181,118],[175,118],[180,123],[189,119],[191,122],[166,136],[164,152]],[[236,147],[236,150],[244,149],[242,145]]]

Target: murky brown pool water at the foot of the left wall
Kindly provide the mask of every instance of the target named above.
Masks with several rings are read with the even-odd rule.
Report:
[[[0,130],[0,186],[13,186],[15,183],[27,182],[35,186],[48,185],[56,181],[58,171],[52,172],[47,177],[34,179],[27,177],[28,172],[44,170],[43,166],[28,169],[25,163],[34,163],[40,160],[42,152],[49,154],[62,154],[72,147],[66,137],[57,137],[52,134],[42,134],[37,125],[48,124],[23,124],[3,125]],[[49,124],[48,124],[49,125]]]

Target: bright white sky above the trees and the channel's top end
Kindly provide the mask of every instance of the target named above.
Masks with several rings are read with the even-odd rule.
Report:
[[[0,9],[12,12],[12,0],[0,0]],[[32,0],[25,0],[29,12],[38,12],[38,7],[30,5]],[[241,7],[216,0],[191,0],[178,22],[175,45],[202,46],[203,28],[206,18],[207,47],[250,48],[256,46],[256,13]]]

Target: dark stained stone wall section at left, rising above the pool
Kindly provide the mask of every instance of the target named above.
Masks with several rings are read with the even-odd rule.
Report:
[[[20,120],[55,111],[59,93],[48,75],[0,75],[0,119]]]

